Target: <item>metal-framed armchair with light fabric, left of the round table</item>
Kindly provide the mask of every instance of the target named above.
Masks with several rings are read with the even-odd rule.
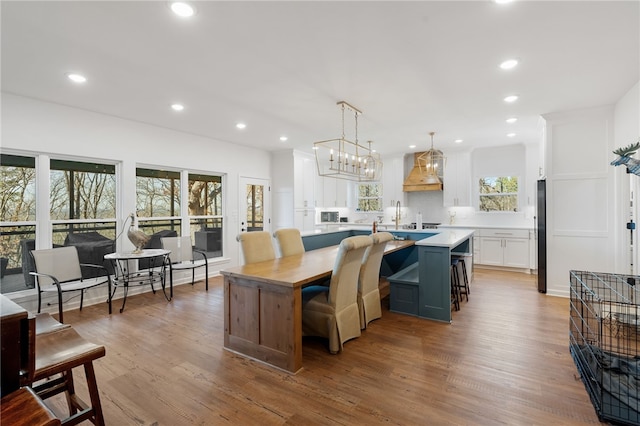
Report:
[[[109,313],[111,313],[111,276],[102,265],[80,263],[78,249],[75,246],[52,249],[31,250],[35,271],[30,274],[36,278],[38,290],[38,313],[42,307],[42,293],[58,293],[58,321],[64,322],[62,313],[62,294],[79,291],[80,310],[87,289],[103,284],[108,286]],[[93,268],[96,276],[82,278],[81,267]],[[102,273],[104,275],[98,275]]]

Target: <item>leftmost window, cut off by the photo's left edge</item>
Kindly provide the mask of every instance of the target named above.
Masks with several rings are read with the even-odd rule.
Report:
[[[34,157],[0,155],[0,292],[26,290],[22,263],[35,248]]]

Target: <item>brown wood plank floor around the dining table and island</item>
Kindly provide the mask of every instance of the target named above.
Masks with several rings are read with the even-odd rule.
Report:
[[[221,278],[106,312],[65,319],[107,348],[95,364],[108,425],[600,423],[569,354],[568,300],[539,294],[533,276],[476,270],[452,324],[385,307],[338,355],[305,338],[297,375],[223,349]]]

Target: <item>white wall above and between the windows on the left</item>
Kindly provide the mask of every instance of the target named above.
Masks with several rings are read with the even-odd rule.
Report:
[[[0,134],[3,153],[104,159],[119,164],[124,177],[116,211],[120,220],[135,210],[137,165],[223,174],[225,261],[209,268],[210,273],[239,261],[235,236],[240,177],[269,179],[271,175],[266,151],[6,93],[2,93]]]

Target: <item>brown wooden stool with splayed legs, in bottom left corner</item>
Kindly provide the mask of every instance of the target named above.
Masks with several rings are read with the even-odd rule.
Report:
[[[104,425],[98,384],[93,369],[93,361],[105,355],[105,348],[83,339],[71,327],[58,327],[49,332],[36,334],[35,369],[30,374],[28,385],[43,400],[65,392],[69,417],[63,419],[64,425],[76,425],[85,420],[95,425]],[[53,327],[56,327],[53,324]],[[90,405],[87,405],[75,393],[73,369],[84,367],[89,390]]]

